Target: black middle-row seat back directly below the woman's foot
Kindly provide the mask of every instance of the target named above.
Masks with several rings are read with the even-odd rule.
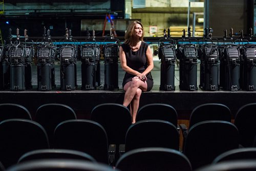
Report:
[[[136,122],[127,130],[125,152],[142,147],[166,147],[179,150],[177,127],[163,120]]]

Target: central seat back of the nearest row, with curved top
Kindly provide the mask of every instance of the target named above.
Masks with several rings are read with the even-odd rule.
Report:
[[[181,152],[161,147],[133,149],[123,154],[116,168],[128,170],[177,170],[191,171],[187,157]]]

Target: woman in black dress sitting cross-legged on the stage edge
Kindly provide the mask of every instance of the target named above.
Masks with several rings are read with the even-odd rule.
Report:
[[[143,26],[140,22],[131,23],[125,33],[124,43],[119,49],[121,67],[125,71],[123,105],[130,104],[132,123],[135,123],[142,92],[153,88],[151,70],[154,68],[150,46],[143,41]]]

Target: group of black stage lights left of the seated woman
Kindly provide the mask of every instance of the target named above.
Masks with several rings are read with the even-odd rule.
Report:
[[[104,56],[104,90],[118,90],[118,45],[119,40],[111,36],[104,39],[108,43],[100,47],[96,42],[95,34],[90,37],[89,28],[87,40],[90,42],[78,48],[78,41],[72,37],[71,30],[66,29],[65,37],[60,39],[61,44],[53,40],[50,30],[42,38],[33,42],[24,31],[24,40],[16,30],[16,39],[13,40],[9,29],[9,41],[0,47],[0,89],[23,91],[32,89],[32,62],[37,66],[37,90],[49,91],[56,87],[54,61],[60,61],[60,90],[71,91],[77,88],[76,68],[77,57],[80,52],[82,61],[82,90],[94,90],[100,87],[101,53]],[[92,43],[93,42],[93,43]],[[111,72],[111,73],[110,73]],[[112,74],[114,73],[114,74]],[[96,85],[98,82],[98,85]]]

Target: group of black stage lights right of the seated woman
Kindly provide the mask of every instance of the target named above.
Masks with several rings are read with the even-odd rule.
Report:
[[[183,30],[182,39],[170,38],[169,29],[164,38],[158,41],[158,55],[161,60],[160,90],[175,90],[174,70],[179,67],[180,90],[194,91],[197,88],[197,65],[200,60],[200,84],[202,90],[256,90],[256,45],[251,42],[252,29],[245,38],[243,30],[239,37],[234,37],[230,29],[230,37],[224,30],[222,39],[212,38],[211,28],[204,29],[201,39],[188,37]]]

